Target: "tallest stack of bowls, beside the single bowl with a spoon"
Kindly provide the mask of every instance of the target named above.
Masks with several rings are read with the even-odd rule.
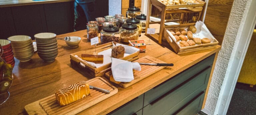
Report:
[[[58,55],[56,34],[39,33],[34,35],[36,40],[37,54],[45,62],[52,62]]]

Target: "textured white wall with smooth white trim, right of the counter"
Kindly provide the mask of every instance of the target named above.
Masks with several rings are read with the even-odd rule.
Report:
[[[227,112],[255,26],[256,10],[252,9],[255,3],[252,0],[234,0],[203,109],[209,115],[223,115]],[[252,11],[250,13],[249,8]]]

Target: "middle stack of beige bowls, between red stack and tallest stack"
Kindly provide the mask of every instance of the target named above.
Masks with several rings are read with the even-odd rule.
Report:
[[[11,36],[8,38],[11,41],[12,52],[14,57],[21,62],[29,61],[34,54],[34,47],[31,37],[29,36]]]

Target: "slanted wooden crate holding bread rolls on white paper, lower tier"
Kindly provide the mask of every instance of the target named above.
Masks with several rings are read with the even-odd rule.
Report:
[[[183,53],[189,53],[189,52],[195,52],[200,50],[207,50],[215,48],[216,45],[219,44],[219,42],[214,38],[214,41],[208,44],[201,44],[201,45],[195,45],[195,46],[188,46],[188,47],[180,47],[180,45],[175,41],[173,36],[170,36],[166,30],[169,29],[185,29],[189,26],[194,24],[182,24],[182,25],[173,25],[173,26],[166,26],[164,27],[163,37],[166,39],[166,41],[170,44],[170,46],[173,48],[173,50],[177,54],[183,54]]]

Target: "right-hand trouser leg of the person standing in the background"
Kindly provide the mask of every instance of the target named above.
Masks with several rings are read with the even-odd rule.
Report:
[[[94,4],[94,2],[82,3],[82,4],[79,3],[79,5],[83,9],[87,21],[88,22],[89,21],[95,21],[95,12],[94,12],[95,4]]]

